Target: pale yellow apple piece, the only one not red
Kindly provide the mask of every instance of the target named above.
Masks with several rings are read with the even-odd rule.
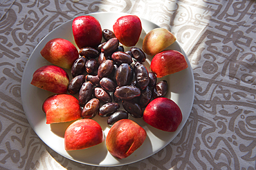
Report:
[[[143,51],[149,55],[154,56],[158,52],[165,50],[176,41],[176,37],[172,32],[165,28],[155,28],[147,33],[143,39]]]

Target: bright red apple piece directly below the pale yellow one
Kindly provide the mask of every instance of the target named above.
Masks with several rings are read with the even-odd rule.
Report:
[[[165,50],[156,54],[150,64],[150,69],[156,77],[161,78],[188,68],[188,63],[181,52]]]

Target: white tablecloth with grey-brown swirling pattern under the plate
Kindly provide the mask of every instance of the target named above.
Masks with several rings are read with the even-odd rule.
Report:
[[[190,59],[194,104],[164,149],[122,167],[60,156],[28,123],[21,77],[37,43],[77,15],[127,12],[170,30]],[[256,169],[256,1],[1,0],[0,169]]]

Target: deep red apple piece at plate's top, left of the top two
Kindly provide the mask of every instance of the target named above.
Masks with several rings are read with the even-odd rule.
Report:
[[[100,22],[91,16],[80,16],[73,19],[73,36],[79,49],[82,47],[98,47],[102,41]]]

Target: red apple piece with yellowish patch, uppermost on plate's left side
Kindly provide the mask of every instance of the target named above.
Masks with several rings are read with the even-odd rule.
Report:
[[[48,41],[40,54],[54,65],[70,69],[79,53],[75,45],[66,39],[56,38]]]

